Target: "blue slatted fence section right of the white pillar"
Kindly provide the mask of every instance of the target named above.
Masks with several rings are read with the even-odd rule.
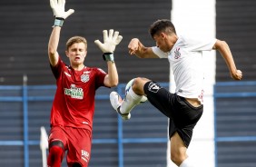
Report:
[[[214,86],[215,166],[256,166],[256,82]]]

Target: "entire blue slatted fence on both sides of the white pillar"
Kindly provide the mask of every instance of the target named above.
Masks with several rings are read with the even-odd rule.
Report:
[[[161,84],[166,88],[169,86],[169,83]],[[115,91],[123,95],[124,86],[124,84],[119,84]],[[54,91],[54,85],[0,86],[0,145],[10,150],[10,154],[19,152],[17,153],[19,161],[16,162],[19,165],[16,166],[41,165],[41,155],[38,151],[39,127],[43,125],[49,130],[48,119]],[[133,161],[125,162],[123,156],[130,157],[130,160],[136,159],[136,156],[142,156],[138,154],[142,152],[134,151],[134,149],[132,151],[130,148],[143,147],[145,150],[143,154],[152,150],[155,152],[152,157],[153,162],[150,161],[150,155],[146,154],[144,162],[136,160],[136,163],[148,163],[147,166],[166,166],[167,119],[161,113],[155,112],[149,103],[146,103],[138,107],[139,112],[133,113],[133,121],[123,123],[110,106],[109,93],[111,91],[113,90],[99,89],[96,94],[95,110],[100,112],[94,115],[96,123],[94,124],[93,150],[96,156],[92,156],[91,164],[93,166],[123,167],[124,164],[125,167],[134,166]],[[216,83],[214,85],[216,167],[256,166],[254,160],[256,156],[255,102],[256,82]],[[147,117],[144,115],[145,111]],[[140,123],[143,125],[134,130],[134,124]],[[132,129],[133,133],[131,133]],[[107,147],[106,152],[101,150],[102,144]],[[243,146],[243,150],[240,151],[237,148],[238,145]],[[15,146],[16,149],[10,149]],[[0,152],[0,156],[3,154],[2,157],[4,157],[2,164],[0,162],[1,166],[7,164],[5,159],[12,161],[12,158],[8,160],[9,156],[4,155],[6,150],[3,149]],[[227,152],[233,158],[227,157]],[[105,156],[109,156],[109,162],[95,160]]]

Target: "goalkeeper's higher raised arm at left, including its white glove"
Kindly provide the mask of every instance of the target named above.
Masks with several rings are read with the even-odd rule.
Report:
[[[50,0],[50,5],[54,13],[54,28],[48,43],[48,56],[50,64],[53,66],[58,63],[59,54],[57,47],[60,39],[61,27],[64,24],[64,19],[74,13],[73,9],[64,11],[65,0]]]

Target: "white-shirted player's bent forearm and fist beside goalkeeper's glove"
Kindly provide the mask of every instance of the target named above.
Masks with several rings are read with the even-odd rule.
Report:
[[[139,58],[159,58],[153,53],[151,47],[145,47],[138,38],[133,38],[128,44],[129,54],[135,54]]]

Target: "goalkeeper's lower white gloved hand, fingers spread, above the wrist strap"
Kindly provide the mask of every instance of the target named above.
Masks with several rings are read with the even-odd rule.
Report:
[[[119,44],[123,39],[122,35],[119,35],[118,31],[113,32],[113,29],[103,30],[103,43],[98,39],[94,43],[103,51],[103,53],[113,53],[115,46]]]

